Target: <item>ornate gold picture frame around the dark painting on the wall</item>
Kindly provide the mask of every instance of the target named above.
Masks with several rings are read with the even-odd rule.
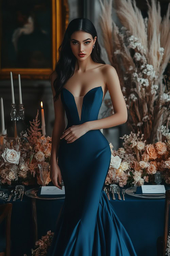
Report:
[[[9,1],[6,1],[6,2],[9,2]],[[33,2],[33,4],[35,2],[36,2],[36,0]],[[27,67],[26,68],[22,68],[22,67],[21,68],[16,68],[16,67],[12,67],[12,66],[7,67],[7,66],[11,65],[11,62],[10,61],[7,62],[5,57],[4,57],[3,59],[6,61],[5,62],[6,66],[4,65],[4,67],[3,67],[3,61],[2,61],[2,59],[0,60],[0,79],[1,80],[10,79],[10,72],[13,73],[13,79],[18,79],[18,74],[21,75],[22,79],[33,79],[33,80],[35,80],[35,79],[48,80],[49,79],[50,74],[53,72],[53,70],[55,68],[55,64],[56,64],[56,61],[58,59],[58,48],[59,48],[59,46],[62,42],[64,32],[65,32],[65,30],[68,26],[68,19],[69,19],[69,8],[68,8],[68,1],[67,0],[49,0],[49,2],[50,2],[50,8],[51,8],[51,10],[50,10],[50,13],[51,13],[50,16],[51,17],[49,18],[49,20],[51,19],[50,20],[51,24],[50,24],[50,22],[48,23],[48,25],[50,24],[49,26],[51,26],[50,27],[51,38],[49,39],[50,43],[48,42],[49,45],[51,45],[51,49],[50,49],[51,59],[48,62],[49,67],[46,67],[46,68],[39,68],[39,67],[35,67],[35,68],[30,68],[30,67],[28,67],[28,68]],[[1,4],[0,7],[2,7],[1,11],[3,11],[4,6],[2,6],[2,5],[4,4],[4,2],[1,0],[0,4]],[[34,10],[35,10],[35,7],[37,8],[37,6],[33,6],[33,7],[34,7]],[[4,8],[7,9],[8,6],[5,6]],[[22,10],[22,16],[25,14],[24,12],[26,12],[26,11],[27,10],[24,10],[24,11]],[[18,12],[17,12],[17,15],[18,15]],[[41,17],[41,20],[42,20],[42,17]],[[45,24],[45,20],[43,20],[43,25],[44,24]],[[3,25],[2,17],[1,17],[1,19],[0,19],[0,38],[1,39],[0,40],[3,40],[3,36],[2,36],[3,35],[3,26],[5,26],[5,24]],[[9,24],[8,24],[8,27],[9,27]],[[19,29],[20,28],[18,28],[18,30]],[[15,31],[18,32],[17,29],[15,29]],[[10,43],[11,43],[11,41],[12,40],[10,38]],[[46,37],[46,41],[48,41],[47,37]],[[2,51],[5,51],[5,49],[4,49],[5,46],[6,46],[6,44],[4,42],[2,43],[2,41],[0,41],[0,53],[2,53]],[[6,49],[6,51],[8,51],[8,49]],[[42,55],[43,55],[43,52],[42,52]],[[2,56],[2,54],[0,55],[0,57],[1,56]],[[36,63],[41,63],[41,62],[37,61]]]

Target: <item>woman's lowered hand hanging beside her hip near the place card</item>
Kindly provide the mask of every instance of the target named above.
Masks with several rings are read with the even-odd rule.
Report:
[[[54,186],[62,189],[62,185],[60,185],[62,183],[62,175],[57,162],[50,163],[50,179]]]

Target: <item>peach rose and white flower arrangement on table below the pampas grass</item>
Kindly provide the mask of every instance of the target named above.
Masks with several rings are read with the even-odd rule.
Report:
[[[162,177],[170,184],[170,133],[166,127],[159,129],[166,137],[164,142],[158,141],[146,144],[143,135],[139,138],[131,131],[130,135],[120,137],[124,139],[123,146],[117,151],[111,147],[111,164],[105,180],[105,184],[118,183],[119,186],[141,186],[144,182],[154,182],[154,173],[162,172]]]

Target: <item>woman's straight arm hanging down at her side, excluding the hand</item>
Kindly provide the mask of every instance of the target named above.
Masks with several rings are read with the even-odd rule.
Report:
[[[55,79],[56,79],[56,72],[54,71],[54,73],[51,75],[51,88],[52,88],[53,96],[55,96],[55,89],[53,86]],[[58,99],[56,101],[53,101],[53,103],[54,103],[55,121],[54,121],[54,127],[52,132],[51,157],[50,157],[51,163],[55,163],[57,161],[60,137],[62,136],[63,131],[66,128],[65,109],[61,101],[61,93],[59,94]]]

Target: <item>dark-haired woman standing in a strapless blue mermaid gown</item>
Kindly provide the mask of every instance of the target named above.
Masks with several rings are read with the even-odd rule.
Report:
[[[100,129],[127,120],[116,70],[101,59],[96,29],[85,18],[69,23],[59,53],[51,76],[55,123],[50,178],[61,189],[63,179],[65,202],[48,255],[136,256],[102,189],[111,149]],[[98,120],[107,89],[115,114]]]

